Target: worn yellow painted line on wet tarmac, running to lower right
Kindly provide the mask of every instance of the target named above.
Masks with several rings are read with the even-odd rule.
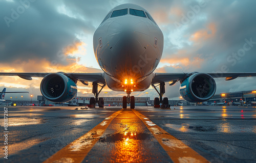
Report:
[[[132,109],[132,111],[142,120],[148,130],[154,135],[163,149],[174,162],[209,162],[196,151],[176,139],[164,129],[153,123],[151,120]]]

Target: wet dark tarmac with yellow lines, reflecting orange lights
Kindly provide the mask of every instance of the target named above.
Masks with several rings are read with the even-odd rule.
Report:
[[[255,106],[7,108],[1,162],[256,162]]]

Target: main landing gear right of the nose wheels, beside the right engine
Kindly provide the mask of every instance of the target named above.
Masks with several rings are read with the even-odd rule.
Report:
[[[157,90],[156,87],[159,86],[159,91]],[[163,94],[165,93],[165,84],[164,82],[163,83],[160,83],[159,85],[155,86],[154,84],[152,85],[152,87],[157,91],[158,95],[159,95],[159,98],[156,97],[154,99],[154,107],[164,107],[164,108],[167,108],[169,107],[169,102],[168,102],[168,98],[167,97],[164,97],[163,98]],[[162,106],[160,105],[162,103]]]

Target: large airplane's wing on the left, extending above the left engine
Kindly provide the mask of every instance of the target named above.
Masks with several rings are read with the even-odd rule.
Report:
[[[60,72],[63,73],[63,72]],[[1,72],[0,76],[19,76],[20,78],[26,79],[26,80],[32,80],[32,77],[45,77],[50,73],[18,73],[18,72],[11,72],[11,73],[4,73]],[[98,82],[105,84],[105,78],[104,73],[63,73],[66,76],[79,80],[80,82]]]

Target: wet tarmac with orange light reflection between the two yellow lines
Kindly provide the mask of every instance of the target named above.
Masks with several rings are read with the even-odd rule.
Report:
[[[112,120],[83,162],[158,162],[158,158],[172,161],[139,117],[127,109]]]

